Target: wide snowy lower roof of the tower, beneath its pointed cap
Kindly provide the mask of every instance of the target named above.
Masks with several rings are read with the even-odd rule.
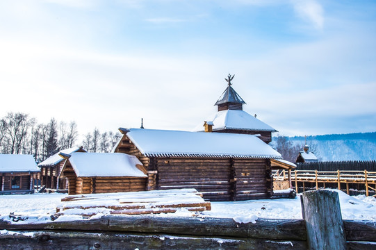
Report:
[[[222,129],[241,129],[245,131],[270,131],[277,132],[268,124],[261,122],[256,117],[243,110],[222,110],[205,119],[213,122],[213,131]],[[202,124],[196,126],[195,131],[204,131]]]

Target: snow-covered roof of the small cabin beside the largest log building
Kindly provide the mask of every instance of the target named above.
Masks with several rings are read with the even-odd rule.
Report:
[[[126,153],[72,153],[69,161],[79,177],[147,177],[136,167],[140,160]]]

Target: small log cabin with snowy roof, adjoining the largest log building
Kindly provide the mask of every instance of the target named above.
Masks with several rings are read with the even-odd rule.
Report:
[[[68,178],[68,193],[97,194],[145,191],[146,170],[125,153],[60,153],[65,164],[60,178]]]

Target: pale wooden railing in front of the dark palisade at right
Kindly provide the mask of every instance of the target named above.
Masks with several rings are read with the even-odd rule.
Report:
[[[287,181],[288,175],[285,170],[275,170],[272,172],[273,181]],[[316,190],[319,188],[319,183],[337,183],[338,190],[341,190],[341,183],[346,184],[346,191],[349,194],[349,183],[363,184],[366,190],[366,196],[369,195],[369,190],[376,191],[376,172],[367,170],[337,170],[337,171],[318,171],[318,170],[295,170],[291,172],[291,180],[295,182],[295,190],[297,192],[298,182],[316,183]],[[370,185],[375,185],[371,187]],[[303,188],[304,191],[304,188]]]

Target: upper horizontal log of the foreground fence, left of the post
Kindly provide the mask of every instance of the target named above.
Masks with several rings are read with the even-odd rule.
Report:
[[[256,224],[239,224],[234,219],[212,217],[104,216],[74,222],[9,224],[0,220],[7,230],[74,230],[117,231],[133,233],[174,233],[269,240],[306,240],[303,219],[257,219]]]

